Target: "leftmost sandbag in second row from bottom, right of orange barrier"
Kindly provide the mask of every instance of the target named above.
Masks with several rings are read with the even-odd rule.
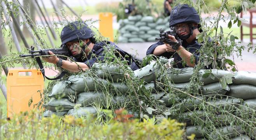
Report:
[[[48,104],[47,104],[47,109],[49,111],[68,111],[72,109],[75,106],[74,103],[70,102],[66,98],[62,99],[54,99],[52,98]]]

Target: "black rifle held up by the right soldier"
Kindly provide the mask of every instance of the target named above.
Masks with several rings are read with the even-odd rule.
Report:
[[[175,36],[177,42],[170,40],[168,35]],[[171,45],[174,50],[177,50],[178,47],[182,44],[182,40],[177,37],[176,31],[173,27],[171,28],[170,31],[166,31],[166,32],[163,32],[163,29],[161,28],[159,36],[160,37],[155,38],[156,41],[162,41],[163,43],[167,43]]]

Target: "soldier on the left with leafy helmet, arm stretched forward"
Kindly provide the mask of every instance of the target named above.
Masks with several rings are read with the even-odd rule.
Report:
[[[93,36],[93,31],[85,22],[72,22],[62,29],[60,38],[62,45],[68,47],[70,55],[74,57],[74,60],[79,66],[74,62],[62,60],[56,56],[50,56],[44,58],[44,60],[56,64],[70,72],[77,72],[81,69],[90,69],[95,62],[103,62],[105,56],[103,46],[112,46],[116,52],[115,54],[123,58],[123,60],[126,60],[133,71],[139,69],[136,60],[133,59],[130,54],[118,48],[115,43],[110,41],[97,41]],[[51,51],[49,51],[49,54],[54,55]],[[79,67],[81,69],[79,69]]]

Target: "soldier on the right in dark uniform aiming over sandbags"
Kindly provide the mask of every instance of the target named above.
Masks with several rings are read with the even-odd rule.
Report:
[[[193,7],[189,7],[186,4],[174,7],[170,14],[169,26],[170,28],[174,27],[177,36],[182,40],[182,44],[173,47],[158,41],[148,48],[147,55],[154,54],[167,57],[167,59],[174,57],[176,62],[174,67],[177,68],[195,67],[200,55],[198,50],[201,47],[201,44],[196,39],[196,35],[200,33],[198,30],[199,23],[200,17]],[[169,35],[169,39],[178,42],[174,36]],[[191,60],[192,55],[194,57]],[[182,59],[185,60],[186,65],[182,64]]]

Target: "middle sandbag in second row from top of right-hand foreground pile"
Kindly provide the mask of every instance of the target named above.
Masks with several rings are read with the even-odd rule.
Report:
[[[202,86],[201,92],[202,95],[216,95],[216,97],[219,97],[220,95],[225,95],[229,90],[230,88],[228,85],[223,89],[221,83],[215,82]]]

